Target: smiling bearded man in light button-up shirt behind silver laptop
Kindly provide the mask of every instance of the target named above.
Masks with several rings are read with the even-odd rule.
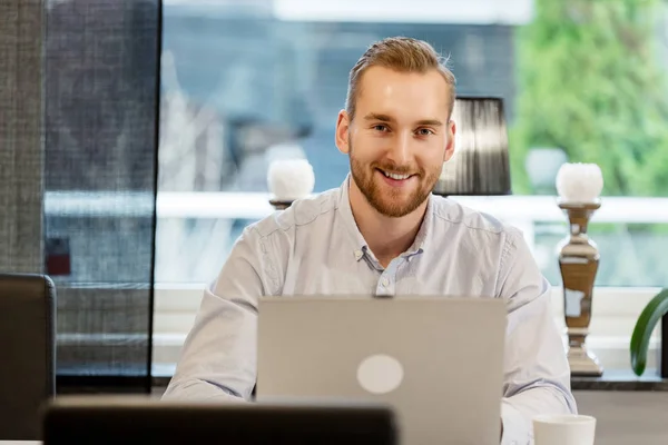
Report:
[[[428,43],[391,38],[362,56],[335,136],[351,175],[244,230],[165,398],[249,397],[259,296],[473,295],[508,301],[502,443],[530,443],[533,415],[576,412],[550,285],[522,235],[431,195],[454,150],[453,103],[454,77]]]

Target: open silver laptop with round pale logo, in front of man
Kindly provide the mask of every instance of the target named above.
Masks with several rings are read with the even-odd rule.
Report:
[[[262,298],[256,397],[382,402],[402,444],[499,444],[505,317],[492,298]]]

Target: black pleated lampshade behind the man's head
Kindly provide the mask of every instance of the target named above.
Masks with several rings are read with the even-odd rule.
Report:
[[[510,195],[510,160],[503,100],[460,96],[452,120],[454,155],[433,192],[442,196]]]

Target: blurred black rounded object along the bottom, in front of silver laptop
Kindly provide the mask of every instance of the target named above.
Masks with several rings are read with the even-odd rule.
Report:
[[[45,445],[396,445],[386,404],[175,403],[59,396],[43,409]]]

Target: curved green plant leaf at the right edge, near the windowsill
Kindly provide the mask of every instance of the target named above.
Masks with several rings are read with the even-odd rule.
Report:
[[[657,323],[668,314],[668,288],[657,294],[642,309],[631,336],[631,367],[641,376],[647,366],[649,339]]]

